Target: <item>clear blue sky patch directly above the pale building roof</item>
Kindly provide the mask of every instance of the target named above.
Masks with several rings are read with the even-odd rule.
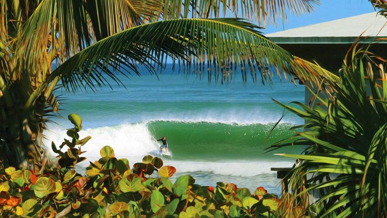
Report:
[[[311,14],[299,17],[289,14],[288,22],[285,21],[285,30],[374,11],[372,5],[367,0],[321,0],[320,6],[317,6],[316,10]],[[280,22],[277,27],[274,25],[267,26],[262,31],[264,33],[272,33],[282,30],[283,25]]]

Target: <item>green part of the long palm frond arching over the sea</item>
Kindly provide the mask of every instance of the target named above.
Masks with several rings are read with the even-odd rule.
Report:
[[[200,76],[228,77],[243,68],[243,79],[270,79],[293,72],[294,58],[265,38],[259,27],[240,19],[176,19],[149,23],[107,37],[59,66],[45,85],[59,76],[68,89],[103,85],[105,77],[117,79],[114,71],[140,74],[138,64],[151,73],[167,58],[182,61],[187,71]],[[164,60],[164,61],[163,61]],[[287,76],[292,76],[288,74]],[[38,93],[38,92],[37,92]],[[36,97],[36,96],[35,96]]]

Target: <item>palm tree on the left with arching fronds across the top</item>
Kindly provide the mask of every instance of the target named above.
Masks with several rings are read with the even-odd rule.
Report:
[[[6,165],[38,170],[42,138],[49,116],[59,106],[53,90],[68,91],[109,85],[116,74],[151,73],[166,59],[185,71],[207,72],[227,80],[236,66],[251,73],[270,66],[285,78],[296,73],[318,80],[319,69],[291,56],[266,39],[259,27],[302,14],[319,0],[156,1],[156,0],[3,0],[0,14],[0,149]],[[189,18],[188,18],[189,17]],[[214,18],[210,18],[214,17]],[[55,65],[55,70],[52,70]],[[309,72],[305,69],[317,69]],[[268,74],[261,75],[262,81]]]

